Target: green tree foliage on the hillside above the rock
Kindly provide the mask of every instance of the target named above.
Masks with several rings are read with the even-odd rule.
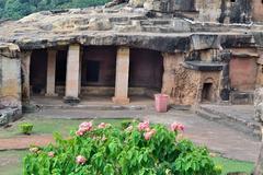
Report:
[[[0,0],[0,19],[18,20],[34,12],[103,5],[110,0]]]

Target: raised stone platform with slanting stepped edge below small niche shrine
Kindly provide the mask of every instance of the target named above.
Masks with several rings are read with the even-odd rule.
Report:
[[[260,124],[254,120],[253,105],[203,104],[196,109],[199,116],[229,126],[238,131],[261,138]]]

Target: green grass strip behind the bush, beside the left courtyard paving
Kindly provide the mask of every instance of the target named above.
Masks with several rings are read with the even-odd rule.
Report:
[[[89,121],[90,119],[52,119],[39,117],[26,117],[19,121],[12,122],[9,128],[0,128],[1,138],[12,138],[22,136],[19,125],[23,122],[33,124],[32,135],[48,135],[54,132],[60,132],[62,136],[68,136],[70,130],[76,130],[82,121]],[[121,119],[94,119],[93,124],[110,122],[114,126],[121,126]]]

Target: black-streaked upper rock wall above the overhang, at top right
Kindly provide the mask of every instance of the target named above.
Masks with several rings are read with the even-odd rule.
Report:
[[[256,21],[262,16],[261,0],[132,0],[130,4],[144,4],[147,10],[162,13],[181,13],[202,22],[250,23],[252,13]]]

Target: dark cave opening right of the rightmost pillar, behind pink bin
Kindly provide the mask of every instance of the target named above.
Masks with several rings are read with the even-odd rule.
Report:
[[[129,55],[129,96],[148,98],[161,92],[163,58],[160,51],[132,48]]]

